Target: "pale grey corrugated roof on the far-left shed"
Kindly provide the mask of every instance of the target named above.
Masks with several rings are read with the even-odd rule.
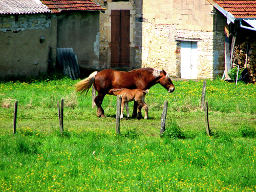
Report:
[[[51,13],[39,0],[1,0],[0,14]]]

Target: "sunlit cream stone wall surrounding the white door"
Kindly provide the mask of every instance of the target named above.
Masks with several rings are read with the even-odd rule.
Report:
[[[196,39],[198,78],[214,78],[223,73],[226,17],[207,1],[144,0],[141,5],[143,22],[138,26],[142,25],[142,34],[140,37],[137,32],[136,38],[142,39],[142,45],[135,45],[137,68],[165,69],[171,76],[181,77],[180,40]]]

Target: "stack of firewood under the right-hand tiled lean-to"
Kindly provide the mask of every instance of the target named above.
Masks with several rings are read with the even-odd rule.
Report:
[[[256,40],[249,39],[236,44],[233,51],[232,67],[248,68],[248,82],[256,83]]]

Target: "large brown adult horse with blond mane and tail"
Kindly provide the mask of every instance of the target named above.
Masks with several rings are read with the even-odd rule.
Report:
[[[87,91],[91,88],[92,84],[98,95],[94,101],[97,105],[97,116],[105,117],[104,110],[101,107],[104,96],[108,94],[111,89],[150,89],[155,84],[160,83],[169,93],[174,92],[174,84],[170,80],[169,74],[164,70],[156,70],[152,68],[141,68],[129,72],[116,71],[113,69],[106,69],[100,72],[93,72],[89,77],[83,79],[75,84],[76,91]],[[141,110],[138,103],[134,106]],[[134,107],[133,117],[136,117],[136,108]],[[138,112],[137,118],[142,117],[141,111]]]

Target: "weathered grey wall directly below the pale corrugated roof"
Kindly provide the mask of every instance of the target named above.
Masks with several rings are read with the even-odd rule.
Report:
[[[56,25],[49,14],[0,15],[0,76],[37,76],[54,68]]]

